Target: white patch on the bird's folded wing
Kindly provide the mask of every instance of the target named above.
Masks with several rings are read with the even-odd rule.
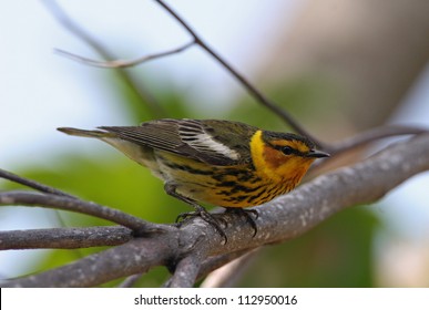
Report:
[[[239,154],[237,151],[229,148],[228,146],[218,141],[215,141],[200,126],[181,126],[180,133],[182,141],[187,143],[195,149],[208,153],[214,152],[234,161],[239,159]]]

